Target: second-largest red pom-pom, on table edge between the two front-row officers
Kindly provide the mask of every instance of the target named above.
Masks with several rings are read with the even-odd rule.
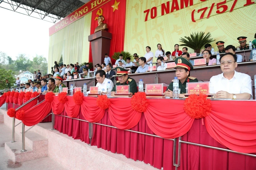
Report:
[[[137,92],[131,99],[132,109],[137,112],[145,112],[148,106],[148,100],[145,92]]]

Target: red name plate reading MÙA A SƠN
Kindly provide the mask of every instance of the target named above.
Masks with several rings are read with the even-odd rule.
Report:
[[[210,94],[209,82],[187,83],[187,94]]]

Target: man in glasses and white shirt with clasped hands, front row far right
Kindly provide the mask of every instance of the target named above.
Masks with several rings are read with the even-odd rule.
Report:
[[[217,99],[252,99],[252,80],[244,73],[235,71],[236,55],[226,53],[220,57],[220,68],[223,73],[210,79],[210,93]]]

